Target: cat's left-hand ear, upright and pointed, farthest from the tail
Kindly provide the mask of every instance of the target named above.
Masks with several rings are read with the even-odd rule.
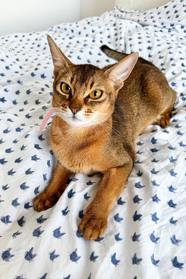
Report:
[[[59,49],[51,36],[47,35],[48,44],[50,47],[52,60],[54,64],[54,75],[58,74],[61,69],[68,68],[72,65],[72,62],[64,55],[64,53]]]

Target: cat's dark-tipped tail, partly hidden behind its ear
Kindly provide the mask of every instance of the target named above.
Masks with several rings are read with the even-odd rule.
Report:
[[[126,53],[121,53],[121,52],[118,52],[118,51],[115,51],[109,47],[107,47],[106,45],[104,46],[101,46],[101,50],[109,57],[117,60],[117,61],[120,61],[122,60],[123,58],[125,58],[128,54]],[[140,63],[140,64],[146,64],[146,65],[150,65],[150,66],[154,66],[153,63],[143,59],[143,58],[138,58],[137,60],[137,63]],[[155,66],[154,66],[155,67]]]

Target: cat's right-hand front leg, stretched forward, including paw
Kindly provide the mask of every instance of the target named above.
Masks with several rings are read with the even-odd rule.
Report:
[[[79,225],[79,232],[85,239],[96,239],[104,233],[113,202],[124,188],[132,166],[133,163],[129,162],[124,166],[111,168],[104,174],[100,188]]]

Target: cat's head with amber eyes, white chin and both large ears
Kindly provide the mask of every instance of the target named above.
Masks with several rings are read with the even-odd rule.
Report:
[[[52,105],[56,115],[73,127],[85,127],[110,118],[119,89],[131,73],[138,53],[128,55],[111,68],[75,65],[47,36],[54,64]]]

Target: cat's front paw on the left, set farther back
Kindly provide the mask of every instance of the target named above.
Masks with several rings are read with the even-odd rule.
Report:
[[[38,212],[47,210],[54,206],[58,199],[59,198],[55,194],[48,196],[45,192],[40,193],[34,200],[33,208]]]

